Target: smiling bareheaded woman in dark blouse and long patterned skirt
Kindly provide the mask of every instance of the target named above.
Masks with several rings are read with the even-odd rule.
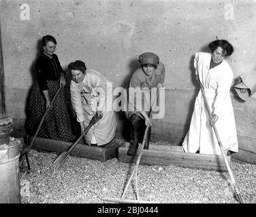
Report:
[[[42,38],[42,54],[35,62],[37,81],[33,85],[29,99],[27,133],[35,134],[46,109],[60,86],[65,86],[65,72],[61,67],[58,56],[54,54],[57,41],[51,35]],[[37,135],[42,138],[71,141],[72,132],[67,104],[63,89],[48,111],[42,127]]]

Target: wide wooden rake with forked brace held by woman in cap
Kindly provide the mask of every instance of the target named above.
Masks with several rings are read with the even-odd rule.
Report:
[[[159,88],[157,88],[157,96],[159,94]],[[155,98],[155,100],[157,100],[157,97]],[[151,120],[152,117],[152,108],[150,109],[149,113],[148,113],[149,119]],[[148,123],[148,125],[146,125],[146,130],[144,132],[144,136],[143,136],[143,140],[142,140],[142,146],[140,148],[140,153],[138,155],[138,159],[135,163],[135,167],[133,168],[133,171],[131,172],[131,176],[125,186],[125,190],[123,191],[123,194],[121,196],[121,199],[118,198],[110,198],[110,197],[104,197],[102,198],[103,201],[112,201],[112,202],[119,202],[119,203],[159,203],[157,201],[144,201],[144,200],[140,200],[139,198],[139,193],[138,193],[138,166],[140,164],[140,159],[142,158],[142,153],[144,150],[144,146],[145,146],[145,142],[146,139],[148,137],[148,129],[151,127],[150,123]],[[131,183],[131,180],[133,178],[133,176],[135,176],[135,190],[136,190],[136,200],[133,199],[124,199],[125,197],[125,193],[127,192],[127,189],[129,187],[129,184]]]

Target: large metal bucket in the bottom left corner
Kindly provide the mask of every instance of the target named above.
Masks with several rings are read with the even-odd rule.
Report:
[[[20,141],[0,145],[0,203],[20,203]]]

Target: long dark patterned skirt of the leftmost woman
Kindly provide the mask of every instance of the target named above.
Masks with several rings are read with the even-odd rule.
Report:
[[[59,89],[59,81],[47,81],[49,87],[50,100]],[[46,100],[39,90],[38,83],[35,82],[29,98],[29,108],[27,117],[27,133],[31,136],[37,131],[39,123],[46,112]],[[63,88],[55,98],[51,109],[48,111],[37,137],[50,138],[53,140],[71,141],[72,131],[67,104],[63,94]]]

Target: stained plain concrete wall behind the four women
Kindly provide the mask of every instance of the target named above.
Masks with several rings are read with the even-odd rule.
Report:
[[[180,144],[187,132],[198,86],[193,54],[207,51],[218,37],[235,48],[229,58],[234,79],[255,68],[256,1],[207,0],[1,0],[1,31],[7,113],[22,131],[33,83],[33,62],[43,35],[56,37],[63,68],[84,60],[125,87],[142,52],[155,52],[165,64],[165,117],[154,121],[153,139]],[[233,93],[231,92],[231,95]],[[232,96],[240,149],[255,148],[255,96],[241,102]],[[118,132],[124,115],[118,114]],[[248,151],[248,150],[247,150]],[[242,151],[241,151],[242,153]],[[253,155],[254,156],[254,155]]]

